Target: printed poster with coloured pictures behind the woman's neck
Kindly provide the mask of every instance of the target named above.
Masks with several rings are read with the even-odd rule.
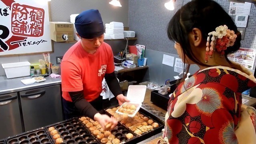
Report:
[[[249,48],[239,48],[234,54],[229,54],[228,59],[241,64],[248,70],[253,70],[256,50]]]

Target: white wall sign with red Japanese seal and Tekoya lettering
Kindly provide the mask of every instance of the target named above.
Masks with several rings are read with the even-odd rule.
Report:
[[[51,51],[47,0],[1,0],[0,56]]]

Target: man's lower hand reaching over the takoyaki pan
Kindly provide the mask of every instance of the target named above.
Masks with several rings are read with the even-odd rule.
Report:
[[[110,129],[108,128],[108,130],[114,129],[114,127],[118,124],[118,122],[115,118],[113,118],[113,117],[110,118],[106,114],[97,113],[97,114],[94,115],[94,120],[97,120],[100,123],[103,130],[107,129],[106,128],[107,124],[111,124],[111,127],[110,127]]]

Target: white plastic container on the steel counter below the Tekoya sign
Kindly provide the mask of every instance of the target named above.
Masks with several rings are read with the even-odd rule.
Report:
[[[30,62],[2,64],[7,78],[30,76]]]

